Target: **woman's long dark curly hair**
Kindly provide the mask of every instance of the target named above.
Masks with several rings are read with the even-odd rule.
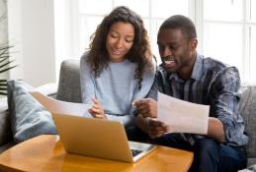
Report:
[[[131,24],[134,28],[133,44],[126,54],[126,58],[131,63],[137,64],[134,79],[138,80],[138,88],[140,89],[144,69],[151,64],[152,54],[142,19],[128,7],[115,8],[97,27],[95,33],[90,37],[88,63],[96,78],[100,77],[103,70],[108,67],[110,57],[106,48],[107,35],[112,25],[118,22]]]

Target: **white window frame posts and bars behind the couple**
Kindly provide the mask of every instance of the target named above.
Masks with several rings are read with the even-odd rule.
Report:
[[[79,0],[69,0],[71,4],[71,41],[72,41],[72,47],[71,47],[71,52],[73,57],[80,57],[81,54],[79,54]],[[149,6],[148,8],[151,9],[151,4],[153,0],[149,0]],[[188,17],[191,18],[195,26],[197,28],[197,33],[198,33],[198,39],[199,39],[199,46],[198,46],[198,52],[201,54],[204,54],[204,26],[206,23],[222,23],[222,24],[233,24],[233,22],[222,22],[222,21],[212,21],[212,20],[205,20],[204,19],[204,0],[188,0],[189,1],[189,12],[188,12]],[[251,65],[250,65],[250,52],[251,52],[251,40],[250,40],[250,27],[256,26],[256,23],[246,21],[248,18],[248,13],[249,13],[249,3],[251,0],[244,0],[243,1],[243,17],[242,17],[242,22],[235,22],[238,25],[242,25],[242,69],[240,71],[240,76],[242,79],[242,82],[246,81],[252,81],[252,74],[251,74]],[[114,7],[114,0],[112,0],[112,8]],[[86,14],[88,16],[101,16],[103,15],[97,15],[97,14]],[[143,17],[142,19],[146,19],[149,21],[149,28],[148,28],[148,33],[150,36],[150,39],[153,39],[155,35],[153,35],[152,32],[152,27],[154,20],[164,20],[164,18],[154,18],[152,17],[152,13],[149,10],[149,16],[148,18]],[[157,46],[155,42],[151,42],[152,46]],[[155,52],[156,53],[156,52]],[[158,52],[156,54],[158,57]],[[158,57],[159,58],[159,57]],[[159,63],[159,60],[158,60]],[[255,81],[254,81],[255,82]]]

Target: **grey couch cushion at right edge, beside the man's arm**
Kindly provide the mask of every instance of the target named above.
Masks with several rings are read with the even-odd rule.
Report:
[[[241,90],[239,111],[243,116],[245,131],[249,136],[249,143],[246,145],[247,156],[256,157],[256,86],[244,85]]]

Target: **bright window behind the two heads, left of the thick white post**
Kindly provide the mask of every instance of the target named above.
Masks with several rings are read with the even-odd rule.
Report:
[[[101,5],[99,6],[99,4]],[[152,51],[157,57],[159,55],[156,35],[165,18],[174,14],[189,15],[189,0],[79,0],[77,4],[79,7],[79,28],[77,30],[79,33],[79,54],[88,48],[90,36],[104,16],[121,5],[128,6],[141,16],[145,29],[148,30]],[[159,57],[158,62],[160,62]]]

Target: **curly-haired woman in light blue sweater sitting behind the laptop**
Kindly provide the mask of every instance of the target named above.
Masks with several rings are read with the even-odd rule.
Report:
[[[131,102],[147,95],[154,81],[155,59],[141,18],[117,7],[91,37],[80,61],[83,103],[95,118],[134,122]]]

